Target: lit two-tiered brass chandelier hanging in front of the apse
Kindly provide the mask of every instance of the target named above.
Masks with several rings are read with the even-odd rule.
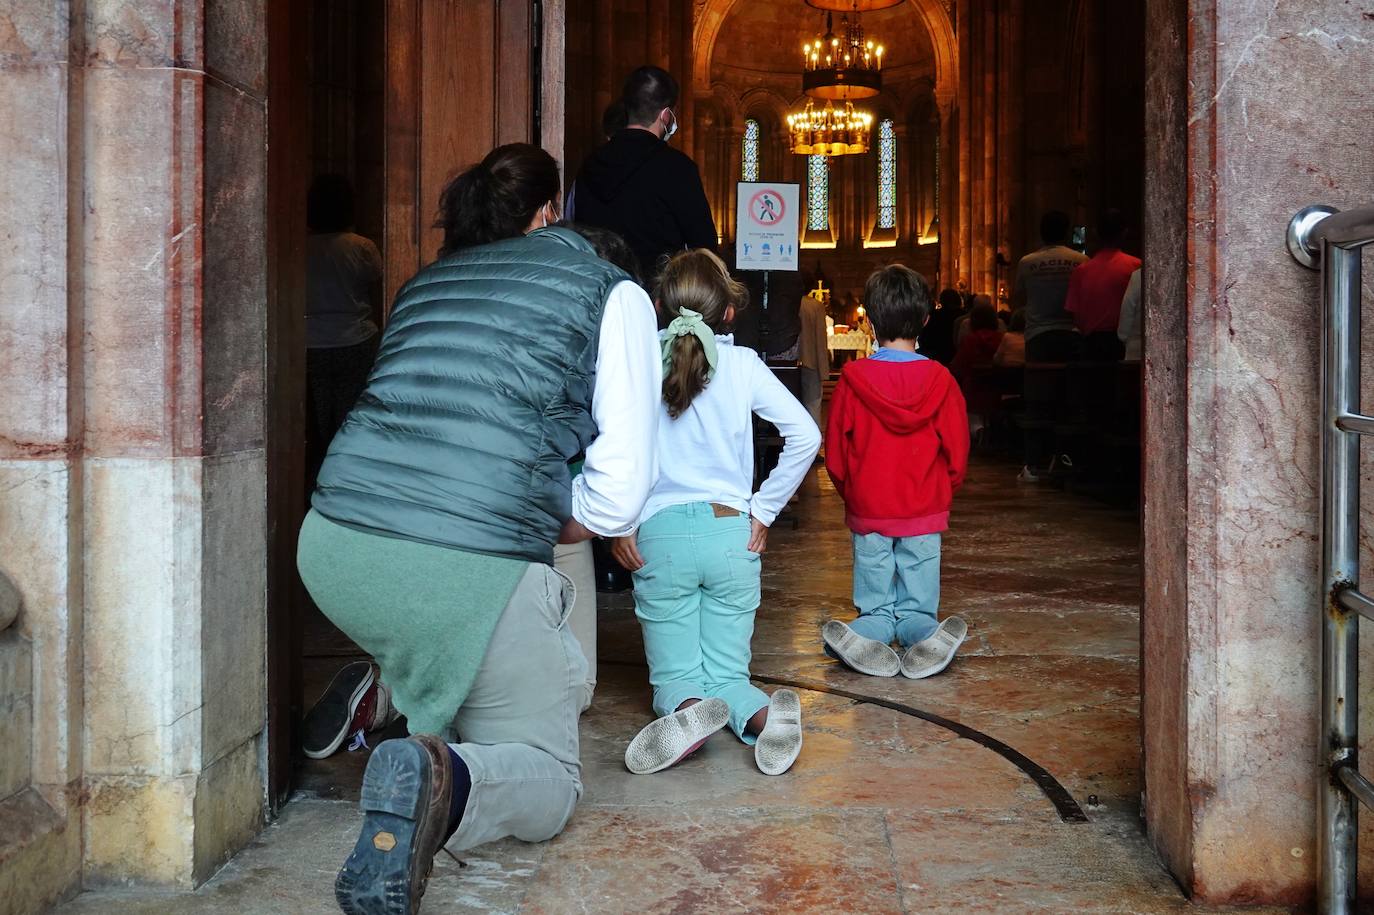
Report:
[[[820,1],[807,1],[822,5]],[[844,10],[841,3],[849,7],[840,18],[840,34],[835,34],[834,14],[826,12],[824,34],[801,47],[801,88],[811,98],[802,110],[787,115],[791,151],[797,155],[835,157],[868,151],[872,114],[855,110],[852,99],[868,99],[882,92],[885,48],[864,34],[859,22],[861,1],[827,0],[824,5],[831,10]],[[826,107],[816,107],[812,99],[824,99]],[[835,107],[837,103],[841,107]]]

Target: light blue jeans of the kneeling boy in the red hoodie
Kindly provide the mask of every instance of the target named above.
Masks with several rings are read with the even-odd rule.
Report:
[[[940,534],[853,534],[855,606],[849,628],[883,644],[910,647],[940,625]]]

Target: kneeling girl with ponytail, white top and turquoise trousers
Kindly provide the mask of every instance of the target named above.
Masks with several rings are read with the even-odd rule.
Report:
[[[629,743],[625,765],[665,769],[728,724],[754,745],[758,768],[779,775],[801,752],[801,705],[791,690],[769,698],[749,681],[749,642],[768,526],[801,485],[820,431],[753,350],[719,335],[746,297],[719,257],[676,256],[655,297],[673,316],[661,334],[658,481],[638,532],[617,539],[613,552],[635,573],[635,614],[661,717]],[[758,492],[756,414],[785,440]]]

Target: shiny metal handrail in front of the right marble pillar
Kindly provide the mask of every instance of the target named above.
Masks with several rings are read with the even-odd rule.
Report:
[[[1289,223],[1287,247],[1322,271],[1322,816],[1318,904],[1355,911],[1359,808],[1374,783],[1359,771],[1359,618],[1374,600],[1359,589],[1360,249],[1374,243],[1374,207],[1308,206]]]

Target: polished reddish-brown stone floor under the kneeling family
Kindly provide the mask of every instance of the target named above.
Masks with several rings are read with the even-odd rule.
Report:
[[[441,856],[425,912],[1173,912],[1139,808],[1138,519],[978,463],[945,541],[944,609],[971,626],[944,675],[877,680],[826,659],[849,610],[842,510],[820,479],[764,563],[754,672],[802,690],[807,743],[767,778],[728,732],[654,775],[625,772],[650,717],[639,629],[605,599],[600,688],[583,723],[587,794],[547,845]],[[320,661],[324,664],[326,661]],[[335,659],[327,659],[328,665]],[[940,723],[826,692],[888,699]],[[981,735],[1043,767],[1061,811]],[[62,912],[328,912],[356,834],[363,754],[308,791],[194,894],[88,893]]]

